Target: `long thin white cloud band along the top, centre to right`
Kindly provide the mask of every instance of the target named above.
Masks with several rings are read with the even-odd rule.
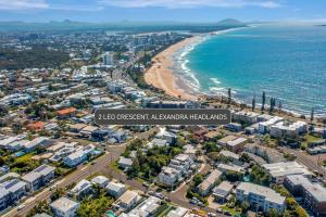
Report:
[[[259,7],[274,9],[281,7],[275,0],[99,0],[99,3],[121,8],[146,8],[162,7],[170,9],[178,8],[244,8]]]

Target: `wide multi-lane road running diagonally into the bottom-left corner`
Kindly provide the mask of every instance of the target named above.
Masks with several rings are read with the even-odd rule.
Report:
[[[108,165],[116,161],[120,155],[121,151],[123,151],[123,146],[120,146],[120,149],[116,152],[105,152],[104,155],[100,156],[98,159],[96,159],[96,163],[93,165],[88,164],[78,167],[77,170],[73,171],[71,175],[64,177],[63,179],[54,182],[53,186],[58,186],[58,188],[65,188],[74,182],[78,182],[82,179],[87,178],[88,176],[96,174],[96,173],[103,173],[108,170]],[[13,208],[7,214],[3,214],[2,217],[11,217],[11,216],[26,216],[29,210],[32,210],[39,202],[49,200],[51,195],[50,188],[43,189],[38,194],[34,195],[30,199],[27,199],[23,205],[24,208],[21,210],[17,210],[17,208]]]

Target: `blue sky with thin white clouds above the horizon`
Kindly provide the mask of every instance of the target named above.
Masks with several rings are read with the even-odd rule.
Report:
[[[326,22],[326,0],[0,0],[0,21],[216,22],[228,17]]]

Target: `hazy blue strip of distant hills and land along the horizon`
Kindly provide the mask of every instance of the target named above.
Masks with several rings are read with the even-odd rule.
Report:
[[[185,23],[185,22],[113,22],[113,23],[86,23],[65,20],[63,22],[51,21],[48,23],[25,22],[0,22],[1,31],[85,31],[85,30],[109,30],[109,31],[166,31],[184,30],[191,33],[209,33],[226,28],[242,27],[246,24],[227,18],[218,23]]]

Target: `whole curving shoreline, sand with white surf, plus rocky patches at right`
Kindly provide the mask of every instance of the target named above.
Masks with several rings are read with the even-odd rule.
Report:
[[[152,59],[152,66],[148,68],[143,75],[145,80],[148,85],[152,85],[155,88],[162,89],[166,94],[179,98],[181,100],[191,100],[197,101],[199,98],[221,98],[223,93],[216,93],[216,95],[211,95],[204,92],[201,92],[199,88],[196,87],[196,85],[190,84],[189,79],[186,79],[185,77],[189,76],[187,75],[187,69],[180,67],[178,65],[178,59],[184,53],[183,51],[187,52],[187,47],[196,46],[209,37],[214,37],[221,34],[234,31],[234,30],[240,30],[243,28],[254,28],[255,26],[247,26],[247,27],[239,27],[239,28],[230,28],[220,31],[213,31],[213,33],[206,33],[206,34],[200,34],[200,35],[192,35],[189,38],[186,38],[177,43],[174,43],[156,54]],[[189,51],[188,51],[189,52]],[[196,79],[196,78],[195,78]],[[195,80],[193,79],[193,80]],[[246,104],[247,106],[251,106],[250,103],[243,103],[240,99],[234,98],[233,101],[237,104],[237,106],[240,107],[241,104]],[[287,115],[291,115],[294,117],[300,116],[308,116],[309,111],[306,113],[301,113],[296,110],[289,110],[286,107],[283,107],[283,113],[286,113]],[[317,117],[324,117],[324,114],[315,114]]]

